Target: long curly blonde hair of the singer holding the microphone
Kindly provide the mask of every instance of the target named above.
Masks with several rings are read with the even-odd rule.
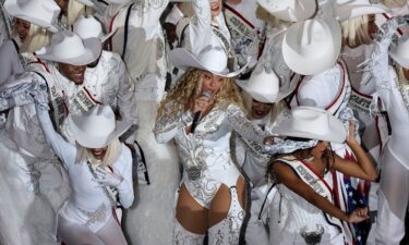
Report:
[[[202,76],[202,70],[189,69],[160,102],[157,119],[165,115],[168,110],[176,114],[181,114],[189,110],[188,106],[201,93]],[[214,106],[227,107],[230,103],[234,103],[245,111],[242,97],[234,82],[231,78],[224,78],[222,83],[220,90],[215,97]]]

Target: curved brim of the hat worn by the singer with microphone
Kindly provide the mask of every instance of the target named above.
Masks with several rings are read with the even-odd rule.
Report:
[[[208,70],[197,58],[189,52],[184,48],[176,48],[170,51],[169,53],[169,61],[177,68],[187,70],[189,68],[196,68],[200,70],[212,72],[215,75],[222,76],[222,77],[234,77],[242,73],[244,69],[250,64],[250,59],[248,59],[246,64],[240,68],[238,71],[229,72],[228,69],[224,71],[212,71]]]

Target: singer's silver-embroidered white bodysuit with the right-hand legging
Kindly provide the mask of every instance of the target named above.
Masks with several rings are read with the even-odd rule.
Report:
[[[156,139],[160,143],[176,139],[179,156],[183,163],[181,183],[187,186],[192,197],[203,207],[209,207],[221,184],[230,188],[232,198],[227,215],[229,223],[228,228],[224,229],[224,234],[233,233],[229,236],[232,237],[230,244],[237,244],[244,210],[238,201],[234,188],[241,174],[231,160],[230,135],[234,130],[249,140],[261,143],[264,133],[257,125],[252,124],[236,105],[215,106],[197,124],[194,134],[187,134],[184,128],[191,123],[190,112],[183,114],[168,112],[156,122]],[[199,169],[193,177],[190,168]],[[210,236],[212,244],[212,241],[216,237]]]

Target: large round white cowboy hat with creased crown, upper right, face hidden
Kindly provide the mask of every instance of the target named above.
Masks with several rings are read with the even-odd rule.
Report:
[[[282,57],[296,73],[314,75],[332,68],[341,48],[341,28],[335,19],[292,24],[282,41]]]

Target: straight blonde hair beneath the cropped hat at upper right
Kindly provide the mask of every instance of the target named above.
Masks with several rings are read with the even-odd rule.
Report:
[[[342,44],[351,48],[371,44],[372,37],[368,23],[368,15],[352,17],[342,22]]]

